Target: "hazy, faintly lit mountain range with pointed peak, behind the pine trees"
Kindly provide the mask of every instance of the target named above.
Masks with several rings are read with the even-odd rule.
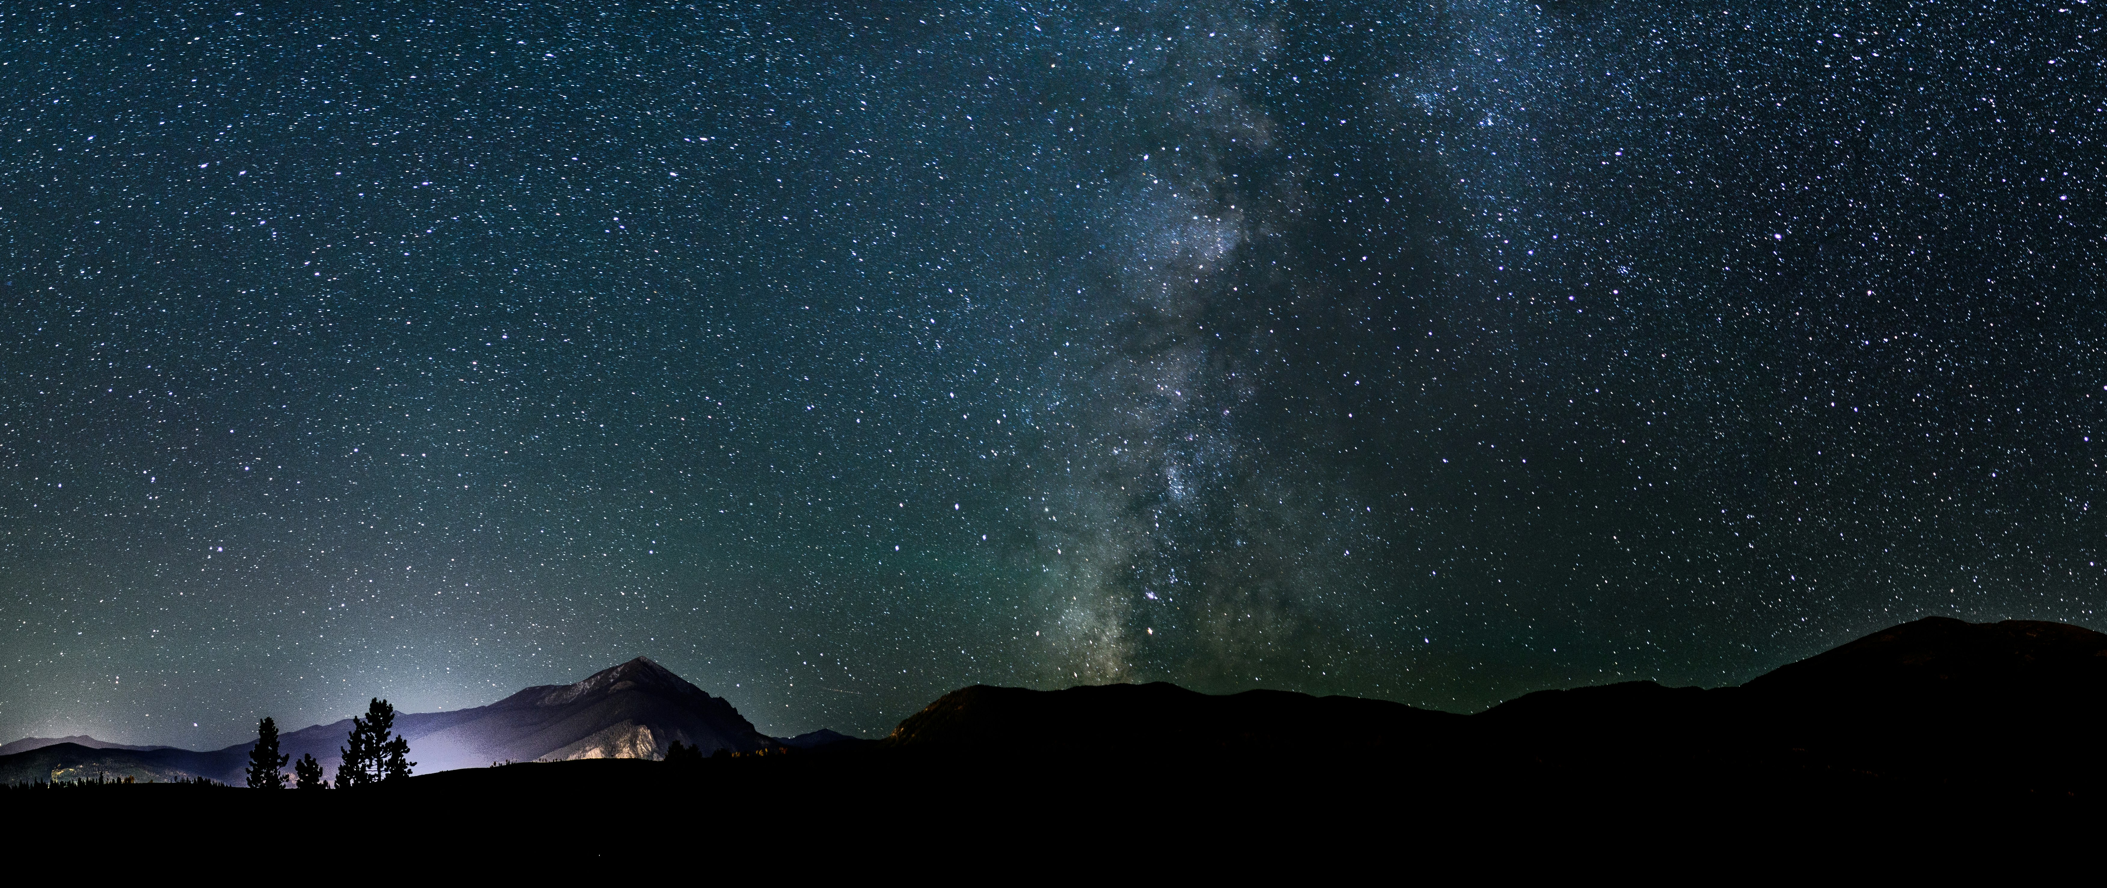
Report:
[[[312,753],[324,774],[335,774],[339,749],[352,722],[316,724],[278,736],[293,760]],[[662,758],[674,741],[700,747],[754,751],[780,745],[754,730],[731,703],[638,657],[577,684],[520,690],[497,703],[436,711],[398,713],[396,732],[409,739],[419,774],[451,768],[485,768],[493,762],[563,762],[584,758]],[[811,734],[807,734],[811,736]],[[249,749],[242,743],[213,751],[175,747],[91,747],[67,739],[23,753],[0,755],[0,783],[95,776],[169,781],[209,776],[244,781]],[[93,739],[88,739],[93,741]],[[32,741],[21,741],[29,745]],[[95,741],[101,743],[101,741]],[[72,749],[61,749],[72,747]]]

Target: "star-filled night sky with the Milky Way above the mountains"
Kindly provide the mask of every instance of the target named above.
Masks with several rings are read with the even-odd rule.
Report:
[[[0,734],[2107,629],[2103,17],[0,6]]]

